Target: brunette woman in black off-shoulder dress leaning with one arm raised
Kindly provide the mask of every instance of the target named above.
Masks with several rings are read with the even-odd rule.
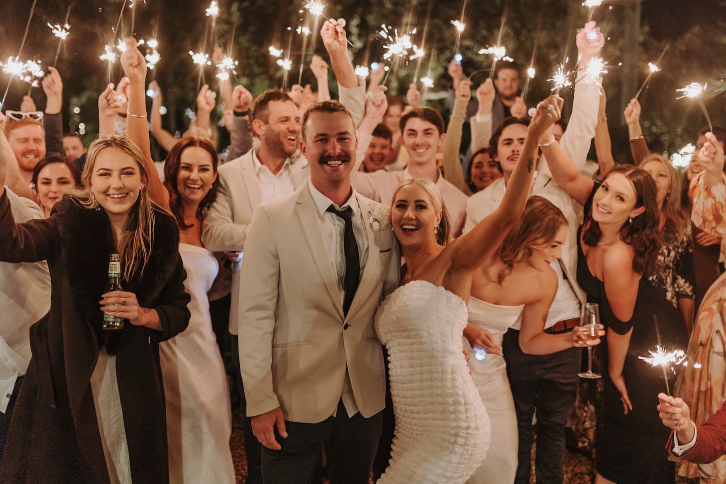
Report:
[[[656,183],[640,168],[616,166],[597,184],[576,170],[551,134],[540,146],[554,181],[584,205],[577,279],[588,302],[600,305],[607,328],[595,483],[672,482],[668,432],[652,411],[662,374],[638,359],[658,343],[672,348],[680,340],[653,317],[654,306],[663,303],[648,280],[661,247]]]

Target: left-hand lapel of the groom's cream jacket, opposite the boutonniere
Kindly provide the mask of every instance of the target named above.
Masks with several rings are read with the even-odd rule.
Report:
[[[330,298],[335,303],[335,308],[338,308],[338,313],[343,318],[343,298],[341,298],[340,290],[338,289],[338,279],[335,278],[333,264],[330,263],[330,255],[325,248],[327,244],[325,243],[325,236],[320,226],[320,217],[315,208],[315,202],[310,194],[310,189],[307,186],[300,190],[298,201],[295,204],[295,210],[298,213],[298,217],[300,217],[303,234],[310,247],[310,252],[313,255],[313,261],[325,282],[325,287],[330,294]]]

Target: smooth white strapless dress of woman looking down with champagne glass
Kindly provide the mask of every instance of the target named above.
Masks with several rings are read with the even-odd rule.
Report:
[[[497,345],[502,345],[505,332],[518,321],[524,305],[491,304],[470,297],[468,309],[469,322],[489,331]],[[507,364],[503,356],[492,353],[486,353],[484,359],[478,360],[466,339],[464,344],[472,355],[469,360],[471,378],[492,422],[492,435],[496,435],[494,446],[467,484],[512,484],[517,472],[519,436]]]

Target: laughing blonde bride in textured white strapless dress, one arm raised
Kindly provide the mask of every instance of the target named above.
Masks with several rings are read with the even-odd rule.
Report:
[[[375,319],[388,349],[396,414],[391,461],[379,484],[465,483],[484,459],[489,417],[462,356],[466,303],[474,271],[524,210],[537,140],[560,118],[562,104],[557,95],[539,103],[502,204],[459,239],[449,242],[436,184],[407,180],[393,194],[391,223],[406,274]]]

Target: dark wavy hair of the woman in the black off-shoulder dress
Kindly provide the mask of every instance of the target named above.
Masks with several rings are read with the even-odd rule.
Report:
[[[608,173],[608,177],[603,183],[613,176],[613,173],[624,175],[635,187],[635,208],[645,207],[645,211],[634,217],[632,222],[623,223],[620,227],[620,238],[635,250],[633,271],[648,276],[653,271],[661,247],[661,237],[658,233],[660,212],[656,199],[656,182],[645,170],[632,165],[616,165]],[[584,229],[582,240],[590,247],[597,246],[602,232],[600,232],[600,225],[592,219],[592,208],[584,213],[584,226],[587,229]]]

